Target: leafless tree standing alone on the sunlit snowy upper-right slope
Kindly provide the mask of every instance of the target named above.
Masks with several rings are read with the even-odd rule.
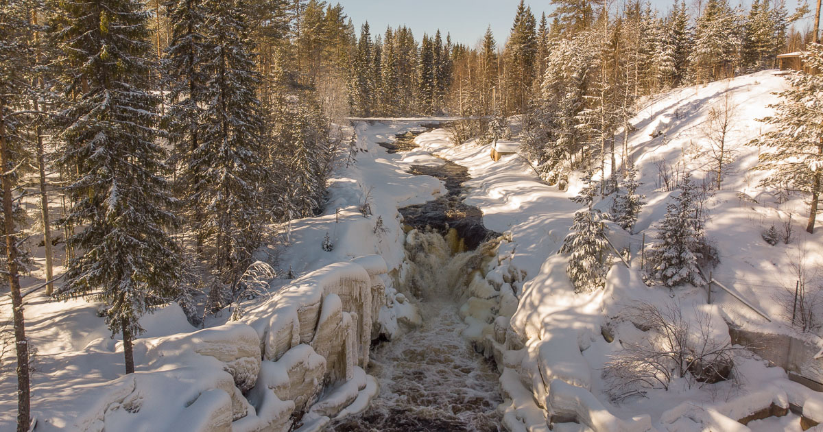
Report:
[[[728,166],[737,158],[737,151],[728,142],[736,111],[737,105],[727,89],[723,99],[709,109],[709,118],[704,123],[704,135],[711,144],[707,156],[712,160],[711,170],[717,176],[718,190],[723,183],[723,174],[728,172]]]

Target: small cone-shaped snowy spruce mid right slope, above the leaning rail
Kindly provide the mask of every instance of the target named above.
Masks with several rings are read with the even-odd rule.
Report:
[[[705,249],[701,217],[695,201],[695,185],[686,173],[680,194],[666,206],[666,216],[658,225],[658,243],[653,245],[649,256],[653,266],[649,276],[663,286],[704,285],[698,269]]]

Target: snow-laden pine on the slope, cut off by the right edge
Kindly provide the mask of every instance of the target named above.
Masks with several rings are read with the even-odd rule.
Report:
[[[823,70],[823,45],[809,44],[803,56],[806,67]],[[796,72],[789,77],[791,87],[780,93],[780,102],[771,105],[774,115],[761,121],[774,125],[753,142],[764,146],[756,170],[770,171],[763,185],[793,188],[811,194],[806,230],[814,232],[823,170],[823,75]]]

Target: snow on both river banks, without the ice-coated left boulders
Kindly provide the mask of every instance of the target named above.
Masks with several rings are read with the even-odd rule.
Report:
[[[605,290],[575,295],[565,274],[568,258],[557,253],[569,233],[574,212],[580,208],[568,199],[579,191],[579,174],[572,176],[566,190],[560,190],[538,179],[519,156],[503,156],[495,162],[491,160],[490,146],[474,141],[454,145],[443,129],[417,137],[421,148],[415,151],[388,154],[377,144],[393,140],[399,132],[420,130],[421,122],[416,121],[357,123],[356,163],[346,165],[343,161],[336,170],[322,216],[292,221],[288,227],[290,246],[279,257],[278,267],[284,272],[291,269],[294,276],[303,276],[329,264],[378,254],[389,271],[385,277],[386,304],[377,317],[380,331],[397,335],[403,327],[419,322],[413,302],[398,293],[392,283],[398,280],[406,257],[398,208],[445,193],[439,180],[406,172],[411,165],[442,164],[432,156],[436,154],[469,169],[472,180],[464,184],[467,204],[481,209],[488,229],[507,233],[511,239],[500,246],[500,253],[509,258],[505,264],[506,281],[500,276],[498,285],[510,283],[519,304],[510,321],[494,321],[495,329],[503,328],[506,343],[485,347],[487,354],[495,354],[502,369],[504,425],[509,430],[548,430],[547,416],[559,422],[576,419],[593,430],[797,430],[799,420],[793,415],[756,420],[748,426],[735,421],[772,403],[780,407],[789,403],[801,406],[804,415],[823,420],[821,393],[788,381],[783,369],[767,367],[764,360],[754,355],[737,359],[736,379],[732,382],[688,385],[678,381],[667,391],[653,390],[646,397],[628,397],[619,403],[608,397],[607,383],[602,379],[602,367],[609,355],[620,349],[621,341],[645,337],[644,332],[615,319],[625,306],[638,301],[659,305],[677,302],[685,315],[703,311],[711,318],[715,326],[712,334],[718,338],[728,337],[726,323],[733,323],[751,332],[792,335],[823,346],[820,337],[798,334],[788,326],[783,305],[775,300],[779,293],[793,288],[797,276],[791,264],[797,262],[800,251],[806,252],[808,269],[823,266],[821,229],[814,235],[802,230],[808,211],[804,197],[793,195],[779,204],[774,191],[760,188],[758,181],[765,174],[748,170],[756,164],[759,149],[742,146],[765,130],[756,118],[770,113],[767,105],[777,100],[772,93],[785,85],[783,77],[766,71],[708,86],[682,88],[644,102],[644,108],[632,120],[637,130],[630,135],[628,148],[644,183],[639,192],[646,195],[649,205],[640,215],[635,235],[611,230],[612,242],[617,247],[630,248],[631,258],[630,268],[619,262],[611,267]],[[658,184],[661,160],[677,167],[675,170],[689,170],[697,179],[705,176],[704,123],[709,109],[720,103],[725,94],[737,107],[728,141],[737,151],[737,161],[724,179],[722,190],[707,203],[711,217],[708,236],[720,253],[713,274],[723,285],[764,311],[770,322],[717,287],[712,294],[713,304],[708,305],[703,288],[668,290],[646,286],[641,276],[638,251],[644,234],[646,243],[651,243],[655,224],[662,218],[671,196]],[[365,203],[372,213],[368,217],[359,210]],[[606,211],[609,202],[605,200],[597,206]],[[772,224],[780,226],[788,218],[795,227],[789,244],[771,246],[760,238],[762,230]],[[378,219],[383,221],[384,230],[375,230]],[[322,248],[326,235],[333,244],[330,252]],[[40,252],[35,251],[35,256],[41,256]],[[486,279],[495,278],[495,272],[489,272]],[[512,277],[513,272],[518,272],[518,276]],[[35,286],[41,281],[40,273],[35,272],[26,284]],[[272,281],[272,292],[289,283]],[[247,322],[267,310],[263,307],[267,300],[263,297],[247,305]],[[10,309],[7,302],[4,299],[0,304],[4,314]],[[256,306],[263,309],[256,310]],[[122,343],[117,335],[114,339],[110,337],[103,318],[96,313],[97,307],[84,300],[53,303],[41,291],[26,297],[27,331],[37,349],[32,396],[33,413],[38,420],[36,430],[100,430],[103,425],[129,425],[133,427],[130,430],[171,428],[176,427],[173,425],[180,418],[193,418],[192,411],[175,418],[188,409],[185,403],[191,397],[207,393],[212,396],[200,398],[192,405],[202,412],[209,409],[209,403],[225,398],[209,393],[214,388],[223,388],[229,397],[237,397],[237,392],[230,389],[243,385],[236,383],[237,371],[233,374],[234,384],[223,383],[226,362],[194,349],[198,340],[218,343],[251,337],[240,327],[226,324],[229,312],[207,321],[208,327],[221,329],[219,335],[192,335],[197,329],[188,324],[175,304],[144,317],[141,323],[146,333],[136,341],[135,363],[138,374],[155,374],[151,381],[138,384],[137,380],[120,378]],[[494,318],[493,314],[490,316]],[[482,345],[486,339],[479,336],[488,329],[480,327],[491,324],[472,321],[471,316],[467,321],[472,327],[466,334],[473,335],[473,340]],[[509,327],[508,332],[504,327]],[[607,332],[614,341],[603,337]],[[160,350],[164,346],[167,351]],[[235,352],[235,357],[250,358],[249,352]],[[307,354],[306,359],[309,358],[312,357]],[[3,355],[2,367],[0,430],[11,430],[16,412],[11,352]],[[244,367],[249,374],[254,370],[252,365]],[[354,381],[366,388],[373,384],[366,383],[362,370]],[[100,406],[101,401],[113,397],[119,400],[117,407]],[[232,401],[235,402],[243,403]],[[362,402],[360,398],[352,402],[351,410],[356,411],[354,406]],[[135,411],[134,406],[141,409]],[[103,416],[101,410],[105,411]],[[198,427],[184,426],[183,429]],[[234,426],[236,430],[253,430],[251,421],[235,421]]]

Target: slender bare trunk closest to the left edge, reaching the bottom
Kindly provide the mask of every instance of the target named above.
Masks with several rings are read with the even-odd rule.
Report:
[[[3,101],[0,100],[0,165],[2,170],[11,168],[8,142],[6,140],[6,117]],[[30,388],[29,388],[29,344],[26,341],[26,327],[23,319],[23,296],[20,293],[20,274],[17,268],[17,236],[14,228],[12,208],[13,171],[2,175],[2,214],[6,235],[6,262],[8,285],[12,295],[12,315],[14,320],[14,341],[17,351],[17,432],[29,430]]]

